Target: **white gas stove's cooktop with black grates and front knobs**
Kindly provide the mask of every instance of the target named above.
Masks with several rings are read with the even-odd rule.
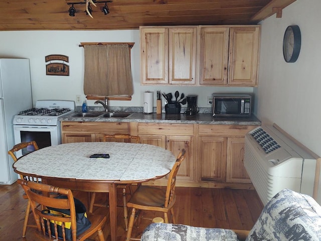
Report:
[[[21,111],[14,117],[14,125],[57,126],[58,118],[75,111],[69,100],[37,100],[35,108]]]

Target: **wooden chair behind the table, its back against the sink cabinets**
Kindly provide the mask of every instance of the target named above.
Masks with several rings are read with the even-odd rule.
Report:
[[[132,142],[133,143],[139,143],[140,137],[138,136],[131,136],[129,134],[122,134],[122,133],[117,133],[117,134],[111,134],[111,135],[104,135],[103,141],[107,142],[108,140],[121,140],[122,142]],[[131,184],[117,184],[117,188],[122,189],[122,199],[123,199],[123,211],[124,211],[124,222],[125,222],[125,230],[127,231],[128,229],[128,210],[127,210],[127,189],[129,189],[130,195],[132,194],[131,190]],[[89,212],[93,211],[94,206],[99,206],[99,207],[107,207],[108,204],[99,204],[95,203],[95,197],[96,193],[91,193],[91,199],[90,199],[90,204],[89,204]]]

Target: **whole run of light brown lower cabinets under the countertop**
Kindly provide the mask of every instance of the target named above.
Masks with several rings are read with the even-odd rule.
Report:
[[[61,127],[62,143],[101,142],[104,134],[128,133],[175,156],[184,148],[178,186],[253,188],[243,166],[244,137],[256,126],[64,121]],[[166,178],[148,182],[166,183]]]

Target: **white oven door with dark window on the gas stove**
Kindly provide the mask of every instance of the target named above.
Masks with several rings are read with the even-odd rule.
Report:
[[[56,146],[61,143],[60,130],[58,126],[27,126],[14,125],[15,144],[21,142],[36,141],[39,149],[49,146]],[[28,147],[29,148],[29,147]],[[16,153],[17,158],[26,155],[33,150],[20,150]]]

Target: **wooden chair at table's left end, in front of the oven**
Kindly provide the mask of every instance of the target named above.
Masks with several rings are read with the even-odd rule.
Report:
[[[33,146],[33,149],[35,149],[35,151],[39,150],[38,145],[35,141],[31,141],[31,142],[22,142],[19,143],[17,145],[15,145],[10,151],[8,151],[8,154],[12,157],[12,159],[14,160],[14,162],[17,162],[17,160],[19,158],[17,158],[16,156],[16,152],[27,148],[29,146]],[[21,175],[20,174],[20,178],[26,181],[33,181],[33,182],[39,182],[39,179],[36,177],[31,177],[31,176],[25,176],[25,175]],[[26,195],[26,193],[24,193],[23,195],[24,199],[28,199],[28,196]],[[26,214],[25,214],[25,222],[24,222],[24,227],[23,227],[23,231],[22,231],[22,236],[25,237],[26,236],[26,232],[27,232],[27,227],[28,226],[32,226],[32,227],[36,227],[36,225],[29,225],[28,224],[28,220],[29,220],[29,214],[30,214],[30,202],[28,201],[27,204],[27,208],[26,208]]]

